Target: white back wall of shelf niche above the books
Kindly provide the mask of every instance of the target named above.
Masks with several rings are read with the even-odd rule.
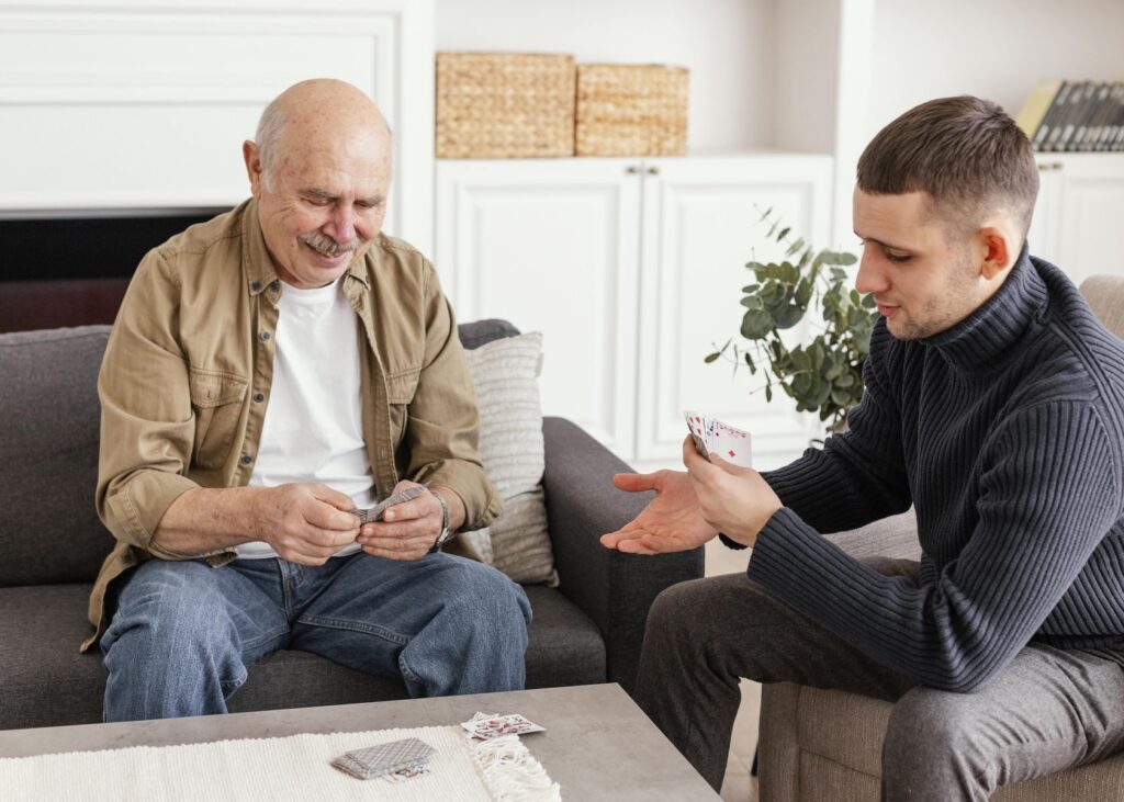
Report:
[[[1018,113],[1042,78],[1124,79],[1121,0],[878,0],[868,134],[931,98]]]

